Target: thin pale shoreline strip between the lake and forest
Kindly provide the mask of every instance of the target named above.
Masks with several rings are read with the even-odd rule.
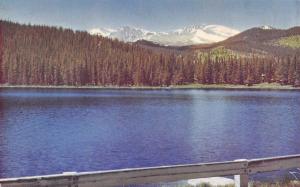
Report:
[[[54,89],[241,89],[241,90],[300,90],[300,87],[292,85],[280,85],[278,83],[261,83],[252,86],[233,85],[233,84],[186,84],[186,85],[170,85],[170,86],[70,86],[70,85],[9,85],[2,84],[0,88],[54,88]]]

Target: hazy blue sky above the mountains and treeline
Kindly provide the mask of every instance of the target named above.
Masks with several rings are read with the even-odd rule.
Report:
[[[169,31],[202,24],[284,29],[300,25],[300,0],[0,0],[0,18],[75,30]]]

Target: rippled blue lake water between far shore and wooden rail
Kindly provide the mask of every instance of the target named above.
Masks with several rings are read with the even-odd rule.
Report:
[[[297,153],[297,91],[0,90],[0,178]]]

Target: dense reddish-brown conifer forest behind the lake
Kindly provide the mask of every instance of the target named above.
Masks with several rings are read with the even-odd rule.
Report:
[[[84,31],[0,21],[0,81],[9,85],[300,86],[300,55],[213,56],[153,50]]]

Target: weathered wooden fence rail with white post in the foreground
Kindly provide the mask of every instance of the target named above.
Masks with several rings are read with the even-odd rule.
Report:
[[[0,187],[110,187],[230,175],[235,176],[236,187],[246,187],[250,174],[297,167],[300,167],[300,155],[289,155],[227,162],[8,178],[0,179]]]

